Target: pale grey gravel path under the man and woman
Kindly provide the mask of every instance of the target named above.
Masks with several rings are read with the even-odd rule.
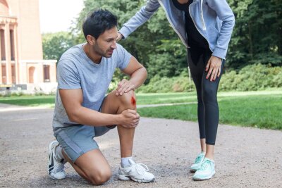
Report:
[[[53,109],[0,105],[0,187],[92,187],[66,165],[65,180],[47,175],[47,146],[54,139]],[[282,132],[219,125],[216,175],[195,182],[189,165],[200,151],[197,123],[141,118],[134,158],[157,180],[149,184],[117,178],[118,134],[97,138],[113,177],[103,187],[282,187]]]

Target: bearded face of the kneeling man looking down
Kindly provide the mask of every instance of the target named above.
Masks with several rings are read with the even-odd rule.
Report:
[[[110,58],[116,49],[116,37],[118,37],[118,29],[116,27],[106,30],[95,40],[93,45],[94,53],[105,58]]]

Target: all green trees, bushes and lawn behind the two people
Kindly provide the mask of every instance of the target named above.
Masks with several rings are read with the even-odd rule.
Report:
[[[228,0],[235,27],[219,85],[220,123],[282,130],[282,1]],[[121,28],[144,0],[85,0],[68,31],[42,33],[44,59],[59,61],[61,54],[85,42],[81,25],[96,8],[118,16]],[[137,89],[139,105],[178,104],[140,108],[142,116],[197,120],[195,86],[190,78],[186,49],[173,31],[162,8],[120,42],[145,68],[145,85]],[[125,77],[116,71],[109,91]],[[54,107],[54,93],[6,93],[0,103]]]

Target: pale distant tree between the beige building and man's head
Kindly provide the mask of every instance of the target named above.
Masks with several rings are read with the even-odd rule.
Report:
[[[74,37],[69,32],[46,33],[42,35],[44,59],[56,59],[71,46],[75,45]]]

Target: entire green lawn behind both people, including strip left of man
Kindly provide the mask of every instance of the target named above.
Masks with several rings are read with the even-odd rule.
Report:
[[[282,130],[282,89],[258,92],[219,92],[220,123]],[[54,107],[55,96],[0,97],[0,103]],[[195,92],[137,94],[137,104],[196,102]],[[197,120],[197,104],[138,109],[154,118]]]

